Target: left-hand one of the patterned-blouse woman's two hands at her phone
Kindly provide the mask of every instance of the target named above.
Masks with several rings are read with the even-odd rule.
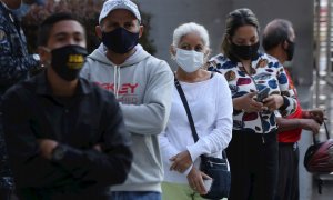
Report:
[[[254,96],[256,96],[256,92],[250,92],[242,97],[235,98],[238,110],[243,110],[244,112],[261,112],[263,110],[266,110],[265,107],[263,107],[262,102],[255,101]]]

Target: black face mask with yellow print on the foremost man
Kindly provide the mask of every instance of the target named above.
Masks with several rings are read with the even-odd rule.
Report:
[[[85,62],[87,49],[80,46],[65,46],[51,51],[51,67],[59,77],[72,81],[79,77]]]

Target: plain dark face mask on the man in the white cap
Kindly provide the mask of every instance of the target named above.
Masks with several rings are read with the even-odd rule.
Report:
[[[120,27],[111,32],[102,32],[102,41],[111,51],[124,54],[139,42],[139,32],[133,33]]]

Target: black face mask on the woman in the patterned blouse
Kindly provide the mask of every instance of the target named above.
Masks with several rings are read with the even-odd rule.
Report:
[[[231,53],[240,59],[250,60],[258,56],[258,49],[260,43],[256,42],[252,46],[238,46],[231,42]]]

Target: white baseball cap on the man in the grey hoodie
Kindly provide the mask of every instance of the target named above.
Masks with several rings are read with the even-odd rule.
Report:
[[[138,9],[138,6],[131,0],[108,0],[104,2],[103,8],[100,13],[99,23],[112,11],[115,9],[125,9],[132,12],[135,18],[141,23],[141,16]]]

